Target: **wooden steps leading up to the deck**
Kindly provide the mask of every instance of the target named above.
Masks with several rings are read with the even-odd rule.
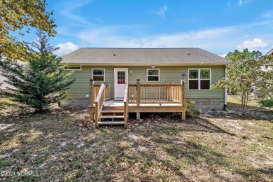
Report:
[[[103,106],[98,125],[124,125],[123,106]]]

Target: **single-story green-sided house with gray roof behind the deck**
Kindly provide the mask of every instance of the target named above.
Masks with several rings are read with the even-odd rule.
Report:
[[[80,48],[64,55],[62,63],[76,78],[62,105],[88,106],[90,79],[109,84],[111,99],[118,99],[125,83],[181,83],[181,73],[186,73],[186,99],[205,110],[224,108],[225,90],[211,90],[211,85],[225,77],[232,62],[200,48]]]

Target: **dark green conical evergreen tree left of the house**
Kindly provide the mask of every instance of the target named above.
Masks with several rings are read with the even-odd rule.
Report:
[[[69,80],[71,71],[64,71],[60,66],[61,58],[53,54],[56,48],[48,43],[43,31],[37,31],[38,40],[25,43],[28,48],[26,64],[1,60],[2,76],[6,83],[15,88],[5,92],[13,101],[26,104],[41,112],[52,103],[64,99],[64,90],[69,89],[74,80]]]

